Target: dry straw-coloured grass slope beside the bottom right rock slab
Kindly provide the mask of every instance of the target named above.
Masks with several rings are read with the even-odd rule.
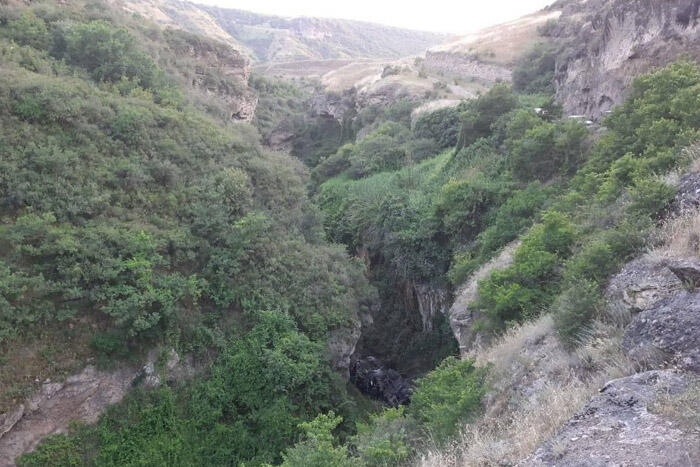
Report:
[[[549,315],[508,331],[473,354],[491,367],[485,415],[449,446],[429,449],[422,467],[513,465],[526,459],[610,379],[633,373],[622,327],[596,322],[575,353],[556,339]]]

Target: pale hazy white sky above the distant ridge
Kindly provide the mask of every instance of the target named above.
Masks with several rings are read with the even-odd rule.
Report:
[[[553,0],[194,0],[279,16],[321,16],[466,33],[532,13]]]

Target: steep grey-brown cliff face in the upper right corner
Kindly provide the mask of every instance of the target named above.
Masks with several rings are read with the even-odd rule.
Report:
[[[562,5],[563,4],[563,5]],[[557,98],[566,112],[603,116],[635,76],[677,60],[700,59],[700,0],[559,2]]]

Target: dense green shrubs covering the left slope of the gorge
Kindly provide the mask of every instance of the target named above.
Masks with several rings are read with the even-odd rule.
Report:
[[[351,420],[325,343],[373,293],[325,242],[301,163],[190,105],[178,68],[109,8],[38,3],[0,21],[2,353],[45,328],[80,345],[87,323],[102,362],[218,355],[203,379],[137,392],[27,462],[276,462],[299,423],[334,407]],[[145,33],[180,60],[173,33]]]

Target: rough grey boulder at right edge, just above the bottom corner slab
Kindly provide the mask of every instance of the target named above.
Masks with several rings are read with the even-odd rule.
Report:
[[[700,372],[700,292],[680,292],[635,316],[622,347],[644,368],[674,364]]]

